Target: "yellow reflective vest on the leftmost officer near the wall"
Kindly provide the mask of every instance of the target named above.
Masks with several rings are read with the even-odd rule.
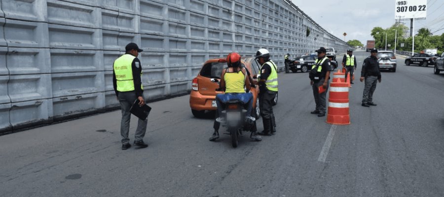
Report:
[[[134,79],[133,79],[133,68],[132,63],[136,57],[125,54],[117,58],[114,61],[113,69],[115,74],[115,79],[117,81],[117,91],[119,92],[129,92],[134,91]],[[140,74],[142,78],[142,73]],[[144,87],[141,85],[142,90]]]

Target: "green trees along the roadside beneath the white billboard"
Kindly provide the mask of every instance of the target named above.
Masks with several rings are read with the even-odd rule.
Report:
[[[408,36],[409,28],[403,24],[396,25],[387,29],[381,27],[374,27],[370,35],[375,40],[375,47],[385,48],[385,34],[387,34],[387,49],[395,48],[395,30],[396,30],[396,50],[411,51],[412,37]],[[404,43],[404,47],[401,47]],[[391,46],[389,47],[388,44]],[[444,33],[441,35],[432,35],[429,29],[421,28],[418,34],[415,35],[415,50],[424,50],[426,48],[438,48],[439,51],[444,51]]]

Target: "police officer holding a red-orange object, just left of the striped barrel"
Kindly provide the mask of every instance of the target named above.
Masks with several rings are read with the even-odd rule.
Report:
[[[318,53],[318,59],[316,59],[315,64],[311,67],[309,78],[310,85],[313,88],[313,96],[316,102],[316,109],[311,114],[318,114],[318,117],[325,116],[327,101],[327,91],[329,89],[329,79],[330,79],[330,70],[332,69],[331,62],[329,58],[326,57],[325,53],[327,52],[324,47],[316,50]],[[323,87],[325,89],[324,92],[319,93],[319,88]]]

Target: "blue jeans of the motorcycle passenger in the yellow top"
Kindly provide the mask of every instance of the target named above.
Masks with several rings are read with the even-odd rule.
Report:
[[[253,94],[251,93],[225,93],[216,95],[216,103],[218,105],[218,112],[222,114],[223,103],[229,100],[242,100],[244,107],[247,110],[247,115],[251,115],[251,108],[253,107]]]

